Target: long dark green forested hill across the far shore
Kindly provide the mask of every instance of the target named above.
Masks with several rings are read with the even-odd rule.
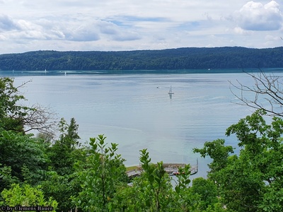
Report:
[[[158,70],[282,68],[283,47],[179,48],[123,52],[36,51],[1,54],[4,70]]]

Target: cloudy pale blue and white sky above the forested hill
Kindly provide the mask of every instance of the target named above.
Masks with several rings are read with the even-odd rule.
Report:
[[[283,0],[0,0],[0,54],[283,45]]]

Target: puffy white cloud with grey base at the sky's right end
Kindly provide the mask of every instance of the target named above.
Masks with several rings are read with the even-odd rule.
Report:
[[[236,13],[238,26],[243,30],[279,30],[282,28],[282,13],[276,1],[267,4],[248,1]]]

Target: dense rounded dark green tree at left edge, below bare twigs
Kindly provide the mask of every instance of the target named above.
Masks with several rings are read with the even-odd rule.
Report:
[[[12,179],[18,182],[37,184],[47,169],[46,143],[32,135],[23,135],[15,131],[0,132],[0,164],[1,168],[11,170]],[[7,175],[6,175],[7,176]],[[6,180],[0,179],[0,189],[8,186]],[[2,187],[3,186],[3,187]]]

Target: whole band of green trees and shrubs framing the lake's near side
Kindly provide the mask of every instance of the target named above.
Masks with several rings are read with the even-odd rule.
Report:
[[[283,113],[277,107],[283,102],[282,78],[248,74],[256,86],[232,86],[256,99],[233,94],[257,110],[226,130],[226,136],[236,135],[239,153],[224,139],[205,142],[193,151],[212,158],[207,179],[191,182],[187,164],[174,187],[163,163],[151,163],[146,149],[139,155],[141,176],[128,184],[117,143],[98,135],[81,146],[74,118],[54,125],[52,113],[40,105],[18,104],[25,97],[13,78],[0,78],[0,211],[283,211]],[[263,108],[258,95],[267,95],[271,107]],[[266,115],[272,120],[265,121]]]

